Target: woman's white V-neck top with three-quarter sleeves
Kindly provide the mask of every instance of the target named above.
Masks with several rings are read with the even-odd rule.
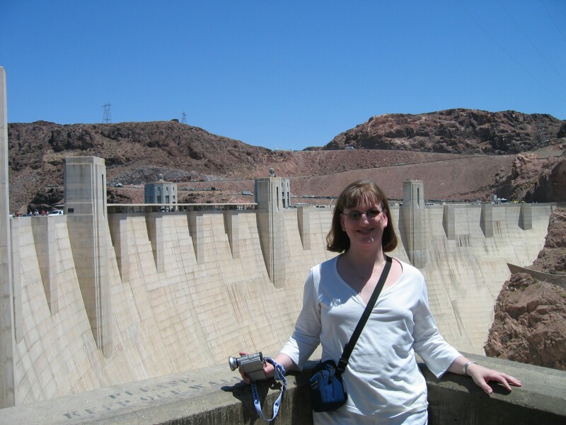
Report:
[[[318,344],[321,360],[337,363],[366,307],[338,274],[337,258],[311,268],[294,333],[282,348],[299,368]],[[439,334],[422,273],[400,263],[403,273],[379,295],[342,374],[350,412],[391,418],[426,409],[427,385],[415,351],[437,377],[460,356]]]

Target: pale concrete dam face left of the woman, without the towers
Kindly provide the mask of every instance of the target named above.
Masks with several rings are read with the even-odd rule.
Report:
[[[191,220],[193,214],[116,217],[124,230],[114,237],[106,228],[112,329],[108,356],[96,344],[79,285],[76,269],[82,259],[74,257],[72,245],[74,237],[83,235],[73,235],[67,225],[75,217],[10,220],[13,263],[20,268],[14,297],[16,405],[226,363],[241,348],[266,353],[280,348],[301,306],[308,268],[327,256],[321,242],[328,213],[311,215],[309,237],[316,249],[308,251],[302,249],[296,210],[284,214],[286,230],[288,223],[294,229],[289,229],[280,260],[289,264],[280,289],[267,275],[255,211],[236,215],[237,259],[223,212],[199,213],[200,220]],[[150,239],[149,223],[156,220],[161,221],[161,271]],[[34,232],[37,227],[47,230]],[[197,260],[192,237],[198,232],[204,249]],[[127,268],[125,279],[116,244],[112,248],[112,240],[120,238],[127,246],[127,258],[120,259],[122,269]],[[47,277],[54,311],[45,289]]]

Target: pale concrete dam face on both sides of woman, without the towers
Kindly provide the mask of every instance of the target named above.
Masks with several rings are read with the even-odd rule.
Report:
[[[487,207],[492,237],[482,229]],[[507,263],[536,259],[552,208],[532,205],[529,229],[521,228],[521,205],[424,209],[421,270],[439,329],[456,348],[483,353],[495,298],[510,275]],[[325,251],[330,209],[279,214],[284,237],[275,258],[285,273],[277,285],[262,254],[258,210],[108,214],[101,236],[109,292],[102,310],[110,314],[111,334],[105,350],[79,284],[82,259],[72,246],[83,235],[69,227],[76,217],[10,220],[18,268],[15,404],[224,364],[240,349],[277,353],[293,330],[308,269],[335,255]],[[392,214],[402,234],[408,223],[399,225],[398,208]],[[447,235],[443,222],[452,219]],[[392,254],[408,261],[399,239]]]

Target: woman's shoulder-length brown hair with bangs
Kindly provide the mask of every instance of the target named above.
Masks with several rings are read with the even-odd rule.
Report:
[[[350,248],[350,238],[340,225],[340,215],[346,209],[356,208],[360,203],[383,205],[383,211],[387,214],[387,227],[383,229],[381,246],[383,252],[390,252],[397,246],[397,235],[393,229],[393,217],[387,202],[387,196],[373,181],[358,180],[350,183],[340,193],[340,198],[334,208],[332,227],[326,235],[326,249],[333,252],[344,252]]]

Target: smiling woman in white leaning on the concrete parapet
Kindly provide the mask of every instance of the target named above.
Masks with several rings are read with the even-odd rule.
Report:
[[[338,361],[376,288],[386,252],[397,246],[387,197],[376,183],[356,181],[342,191],[326,240],[327,249],[340,254],[308,273],[294,333],[274,358],[286,370],[300,370],[319,344],[321,361]],[[444,341],[422,273],[393,258],[342,374],[347,401],[333,412],[313,412],[314,423],[426,424],[427,385],[416,354],[438,378],[446,371],[469,375],[487,394],[492,392],[490,381],[509,391],[509,385],[521,385],[470,361]],[[264,370],[273,376],[274,365],[266,363]]]

